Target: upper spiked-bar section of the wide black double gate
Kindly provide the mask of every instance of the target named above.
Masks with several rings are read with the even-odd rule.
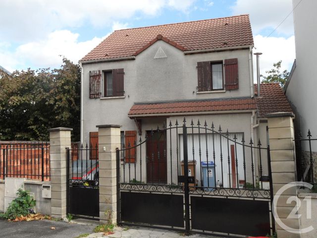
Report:
[[[183,127],[170,122],[168,127],[148,131],[144,141],[140,136],[138,141],[123,145],[121,182],[181,185],[183,143],[187,142],[189,173],[194,179],[191,185],[196,189],[267,189],[262,181],[269,181],[269,147],[263,147],[260,139],[247,140],[243,132],[223,131],[213,123],[209,127],[206,121],[204,125],[191,121],[186,128],[184,138]],[[206,171],[212,180],[205,178]]]

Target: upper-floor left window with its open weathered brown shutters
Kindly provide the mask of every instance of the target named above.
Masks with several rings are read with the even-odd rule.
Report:
[[[104,93],[102,95],[101,70],[89,71],[89,98],[124,96],[124,70],[116,68],[103,71]]]

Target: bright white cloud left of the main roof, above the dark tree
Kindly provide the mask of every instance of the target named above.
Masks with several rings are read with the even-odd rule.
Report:
[[[60,56],[77,63],[106,36],[85,42],[78,42],[78,37],[77,33],[60,30],[50,33],[44,40],[20,45],[13,53],[1,51],[0,48],[0,62],[5,62],[2,66],[11,71],[12,65],[16,69],[25,69],[25,64],[32,64],[34,68],[59,67],[62,64]]]

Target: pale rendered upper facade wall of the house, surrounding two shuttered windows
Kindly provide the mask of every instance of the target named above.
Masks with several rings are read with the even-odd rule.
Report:
[[[154,59],[159,47],[167,58]],[[197,62],[231,58],[238,58],[239,89],[197,94]],[[113,68],[124,68],[125,98],[89,99],[89,71]],[[89,131],[97,131],[98,124],[120,124],[122,130],[136,129],[134,121],[128,118],[135,102],[251,97],[249,50],[184,55],[158,41],[136,56],[136,60],[83,64],[83,69],[84,142],[89,141]]]

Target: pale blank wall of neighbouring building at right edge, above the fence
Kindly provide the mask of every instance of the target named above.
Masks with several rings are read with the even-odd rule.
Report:
[[[293,6],[300,0],[293,0]],[[287,87],[286,96],[296,107],[301,132],[311,129],[317,134],[317,1],[303,0],[293,12],[295,28],[296,68]]]

